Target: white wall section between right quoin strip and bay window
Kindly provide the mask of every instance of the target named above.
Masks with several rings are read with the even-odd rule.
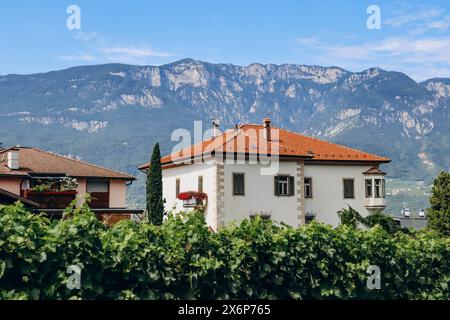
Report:
[[[338,226],[337,212],[349,205],[362,216],[369,212],[365,208],[365,179],[363,172],[371,166],[308,165],[305,164],[305,178],[312,178],[313,197],[305,199],[305,211],[316,214],[320,222]],[[355,180],[355,198],[344,199],[343,179]]]

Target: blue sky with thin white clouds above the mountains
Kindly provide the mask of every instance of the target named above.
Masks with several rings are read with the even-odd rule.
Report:
[[[80,30],[66,27],[72,4]],[[381,9],[381,29],[367,28],[369,5]],[[450,77],[448,0],[1,1],[0,37],[0,74],[189,57]]]

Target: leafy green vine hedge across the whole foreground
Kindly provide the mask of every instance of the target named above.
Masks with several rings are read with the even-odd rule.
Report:
[[[0,299],[449,299],[450,239],[260,219],[208,230],[199,213],[107,228],[0,206]],[[67,267],[82,268],[70,290]],[[367,268],[381,269],[370,290]]]

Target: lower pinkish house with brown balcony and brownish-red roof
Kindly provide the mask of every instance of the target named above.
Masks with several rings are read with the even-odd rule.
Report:
[[[142,213],[127,209],[127,185],[134,180],[128,174],[36,148],[0,149],[0,203],[20,200],[37,212],[61,215],[75,199],[81,206],[89,193],[90,207],[102,219],[129,218]]]

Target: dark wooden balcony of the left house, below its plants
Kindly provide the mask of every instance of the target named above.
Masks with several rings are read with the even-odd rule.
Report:
[[[77,191],[25,190],[24,198],[39,204],[40,209],[65,209],[76,199]]]

